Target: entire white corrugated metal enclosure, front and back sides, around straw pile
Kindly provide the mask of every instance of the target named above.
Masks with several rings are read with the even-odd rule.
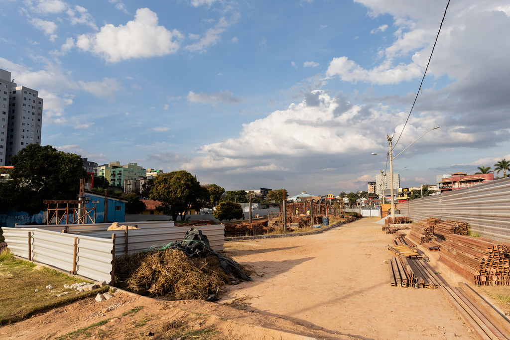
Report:
[[[37,261],[93,280],[112,280],[113,253],[121,256],[183,240],[190,227],[173,222],[139,222],[140,229],[106,230],[110,223],[3,227],[14,255]],[[223,224],[195,226],[211,248],[223,250]],[[62,232],[66,230],[67,232]],[[112,235],[113,234],[113,235]]]

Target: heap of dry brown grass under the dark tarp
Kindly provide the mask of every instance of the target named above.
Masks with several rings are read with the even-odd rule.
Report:
[[[189,258],[177,249],[119,257],[115,273],[119,288],[175,300],[205,299],[229,282],[216,256]]]

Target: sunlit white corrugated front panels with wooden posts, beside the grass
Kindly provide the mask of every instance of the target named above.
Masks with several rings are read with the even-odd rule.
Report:
[[[14,255],[29,258],[63,271],[73,269],[74,243],[77,244],[76,274],[98,281],[111,281],[113,240],[68,234],[38,228],[3,227],[5,240]]]

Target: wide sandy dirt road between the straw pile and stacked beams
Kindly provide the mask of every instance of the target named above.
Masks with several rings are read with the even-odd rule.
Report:
[[[227,242],[262,277],[223,299],[311,328],[365,339],[474,339],[439,290],[392,287],[385,260],[394,236],[363,218],[313,236]],[[225,301],[223,301],[225,302]]]

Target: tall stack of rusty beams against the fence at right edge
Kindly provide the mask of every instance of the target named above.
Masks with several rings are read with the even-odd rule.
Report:
[[[508,244],[486,238],[447,234],[439,260],[476,285],[510,285]]]

